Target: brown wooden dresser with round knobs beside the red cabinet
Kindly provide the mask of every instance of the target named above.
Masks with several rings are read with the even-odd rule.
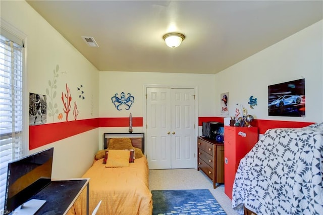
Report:
[[[197,137],[197,171],[202,170],[213,182],[224,183],[224,144]]]

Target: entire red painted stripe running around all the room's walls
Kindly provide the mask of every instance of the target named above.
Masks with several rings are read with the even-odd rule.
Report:
[[[223,117],[199,117],[198,125],[202,122],[221,122]],[[270,128],[301,128],[311,125],[311,122],[292,122],[278,120],[254,120],[252,125],[259,128],[259,134],[264,134]],[[133,127],[142,127],[143,118],[133,117]],[[125,118],[95,118],[62,123],[29,126],[29,150],[56,142],[99,127],[129,127],[129,117]]]

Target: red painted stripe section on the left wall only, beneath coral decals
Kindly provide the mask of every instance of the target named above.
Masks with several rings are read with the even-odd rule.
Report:
[[[29,126],[29,150],[98,128],[98,121],[95,118]]]

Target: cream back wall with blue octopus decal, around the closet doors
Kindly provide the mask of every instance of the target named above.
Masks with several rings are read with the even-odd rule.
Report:
[[[149,73],[149,72],[106,72],[99,74],[99,116],[105,117],[144,117],[144,86],[163,85],[176,87],[196,87],[198,99],[198,117],[215,115],[214,75],[182,74],[182,73]],[[135,97],[130,110],[118,111],[111,97],[118,93],[131,93]],[[128,132],[128,128],[100,128],[99,139],[104,132]],[[133,132],[143,132],[142,127],[134,127]],[[102,141],[100,142],[102,144]]]

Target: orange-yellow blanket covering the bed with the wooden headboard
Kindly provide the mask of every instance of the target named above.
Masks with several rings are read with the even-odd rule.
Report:
[[[83,175],[90,178],[89,212],[100,200],[96,214],[152,214],[152,194],[148,186],[148,162],[145,156],[135,159],[129,167],[105,168],[102,159]],[[75,201],[69,214],[86,214],[86,189]]]

